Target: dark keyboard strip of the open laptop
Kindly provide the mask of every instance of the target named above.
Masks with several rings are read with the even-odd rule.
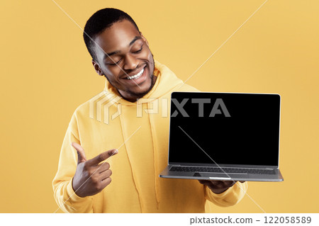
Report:
[[[210,172],[227,174],[275,174],[274,169],[244,169],[244,168],[218,168],[218,167],[196,167],[196,166],[172,166],[169,171],[185,172]]]

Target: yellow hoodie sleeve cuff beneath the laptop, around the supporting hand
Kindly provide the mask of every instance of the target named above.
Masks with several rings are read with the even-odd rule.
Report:
[[[232,187],[220,194],[213,193],[208,186],[204,185],[204,197],[212,203],[221,207],[235,205],[242,200],[247,191],[247,182],[237,181]]]

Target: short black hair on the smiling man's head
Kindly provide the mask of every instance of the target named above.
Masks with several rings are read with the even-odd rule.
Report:
[[[106,30],[106,28],[110,28],[113,23],[121,22],[124,19],[133,23],[135,28],[138,29],[135,21],[133,21],[133,18],[131,18],[128,13],[114,8],[100,9],[99,11],[96,11],[96,13],[94,13],[88,21],[86,21],[86,24],[84,26],[83,38],[86,48],[87,50],[89,50],[89,53],[93,60],[97,60],[93,41],[94,38],[96,38],[96,35],[102,33],[104,30]],[[139,29],[138,33],[140,33]]]

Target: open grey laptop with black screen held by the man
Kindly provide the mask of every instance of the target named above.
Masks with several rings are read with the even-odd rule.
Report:
[[[279,171],[281,96],[173,92],[162,178],[284,181]]]

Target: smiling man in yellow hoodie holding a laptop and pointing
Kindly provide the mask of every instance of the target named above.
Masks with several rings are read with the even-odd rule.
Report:
[[[198,90],[154,60],[133,19],[118,9],[97,11],[86,22],[84,42],[97,74],[106,77],[105,88],[74,111],[67,128],[52,181],[60,208],[67,213],[205,213],[206,200],[220,206],[239,202],[246,182],[159,178],[167,164],[165,103],[172,91]],[[150,113],[155,104],[159,113]],[[104,122],[91,117],[94,112],[104,115]]]

